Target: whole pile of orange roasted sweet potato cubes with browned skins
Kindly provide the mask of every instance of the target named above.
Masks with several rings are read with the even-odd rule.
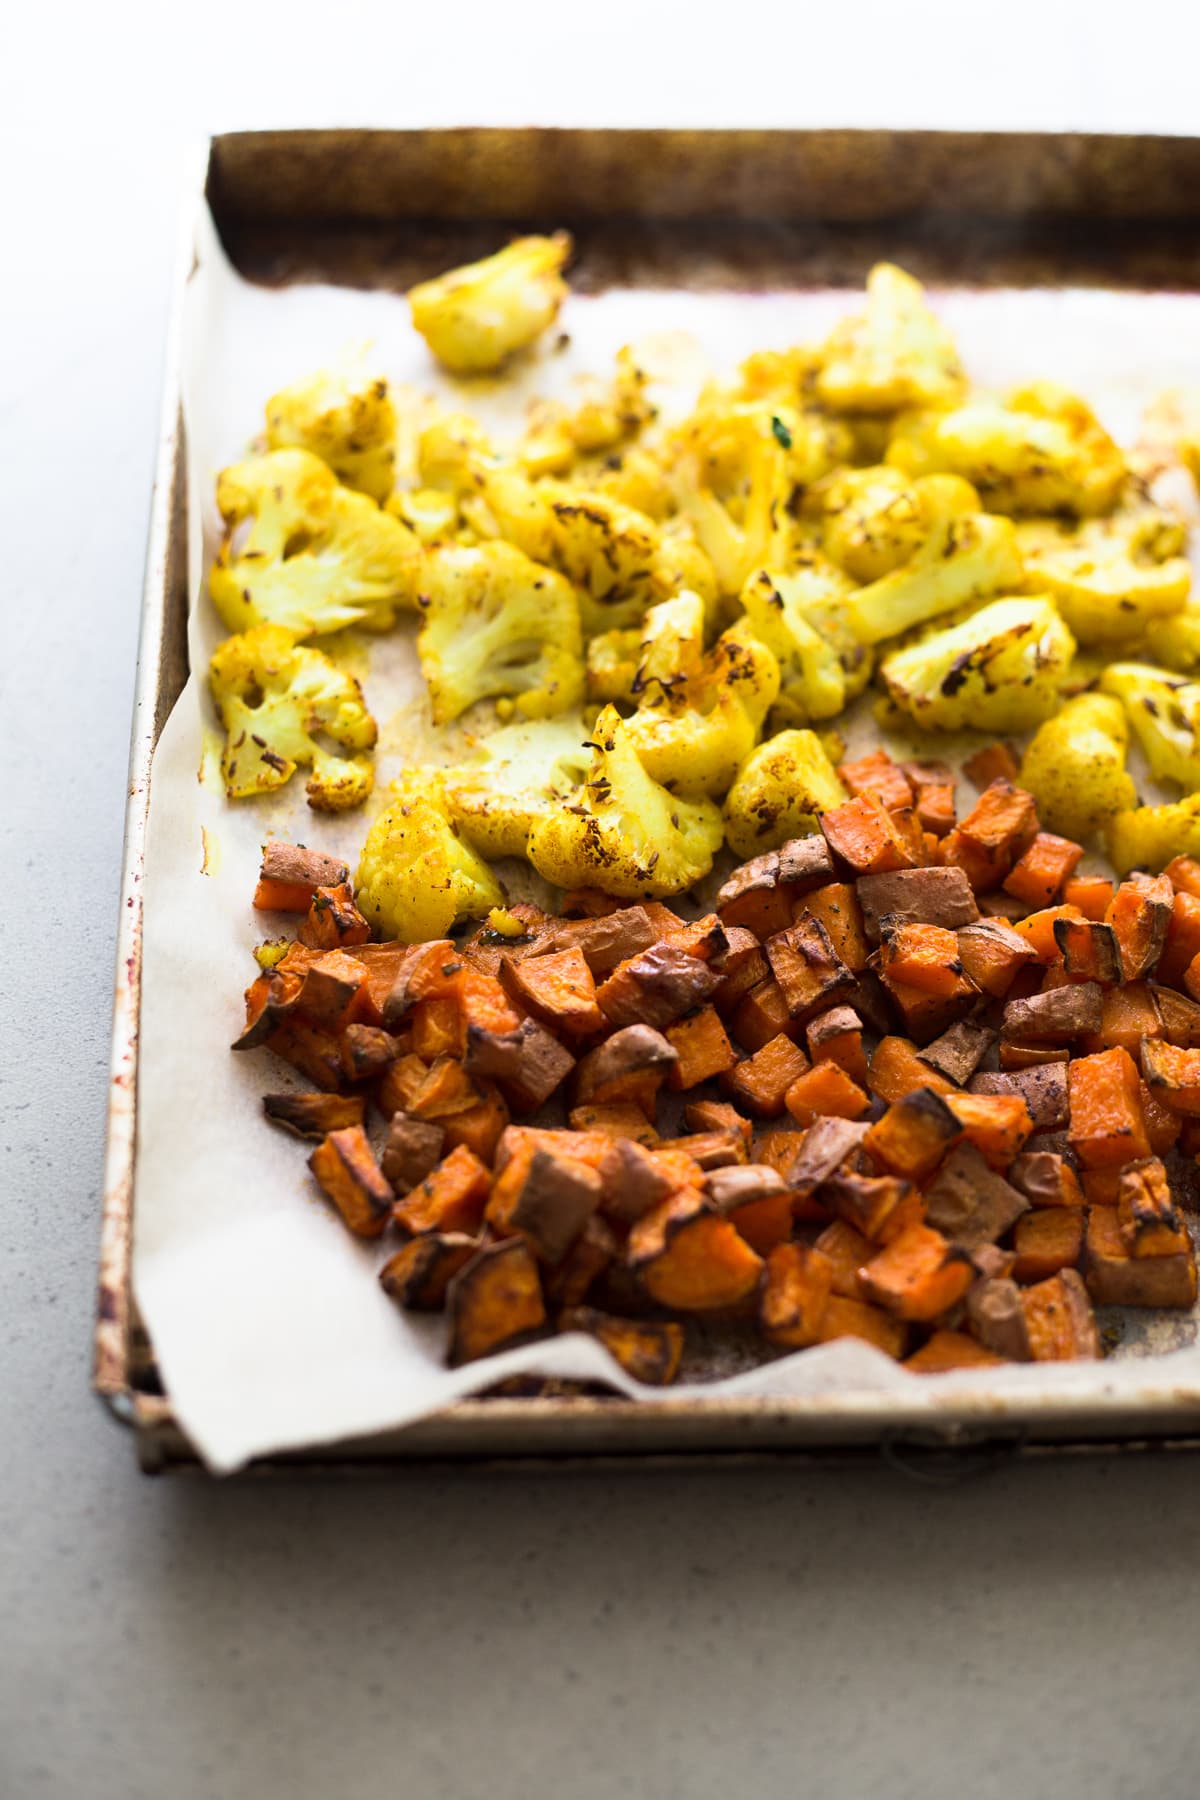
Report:
[[[1196,1298],[1200,860],[1081,875],[1007,747],[968,774],[959,817],[943,763],[842,763],[694,922],[588,886],[372,941],[344,864],[272,842],[255,905],[302,922],[234,1048],[308,1082],[268,1118],[452,1363],[583,1330],[669,1382],[696,1319],[1097,1357],[1094,1305]]]

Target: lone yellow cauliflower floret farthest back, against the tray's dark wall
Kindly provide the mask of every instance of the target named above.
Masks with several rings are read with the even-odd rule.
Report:
[[[480,263],[412,288],[412,322],[453,374],[488,374],[554,324],[567,299],[569,256],[567,232],[518,238]]]

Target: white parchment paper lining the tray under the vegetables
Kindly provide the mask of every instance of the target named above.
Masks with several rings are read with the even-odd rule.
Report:
[[[865,274],[865,272],[864,272]],[[975,380],[1006,385],[1052,374],[1092,398],[1119,437],[1132,437],[1146,400],[1195,380],[1200,306],[1189,295],[1085,290],[990,290],[936,295]],[[838,293],[676,293],[612,290],[574,297],[563,328],[516,383],[473,383],[464,403],[497,428],[516,428],[534,392],[569,387],[581,369],[603,371],[626,342],[649,340],[685,401],[696,358],[718,369],[761,346],[819,337],[846,311]],[[225,263],[205,214],[187,290],[184,401],[189,441],[191,664],[203,670],[221,628],[201,596],[203,551],[216,538],[216,472],[245,454],[277,387],[353,346],[369,346],[403,391],[439,383],[412,333],[403,299],[345,288],[264,290]],[[1135,346],[1135,355],[1130,355]],[[410,632],[358,639],[351,662],[381,722],[380,788],[423,754],[421,686]],[[272,1132],[261,1094],[284,1085],[255,1053],[230,1057],[239,988],[254,974],[250,947],[263,920],[248,896],[263,841],[299,837],[345,853],[362,815],[326,821],[304,805],[297,779],[281,799],[228,806],[214,783],[214,720],[189,682],[158,743],[148,832],[140,1139],[133,1282],[175,1413],[203,1460],[228,1471],[277,1449],[335,1442],[403,1426],[511,1373],[601,1377],[630,1397],[640,1390],[592,1339],[570,1336],[507,1352],[466,1370],[441,1364],[444,1325],[398,1312],[372,1278],[385,1251],[353,1240],[315,1193],[302,1147]],[[198,772],[203,779],[198,779]],[[1178,1343],[1180,1321],[1146,1319],[1139,1343]],[[675,1390],[676,1399],[732,1395],[903,1393],[934,1418],[964,1393],[1142,1393],[1150,1370],[1117,1355],[1103,1366],[1004,1368],[937,1381],[900,1370],[846,1341],[801,1352],[721,1382]],[[1153,1364],[1155,1384],[1200,1395],[1200,1354]]]

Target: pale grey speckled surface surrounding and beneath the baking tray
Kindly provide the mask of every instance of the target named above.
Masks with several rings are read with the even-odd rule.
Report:
[[[972,34],[975,29],[975,34]],[[148,1481],[86,1391],[175,205],[209,128],[1195,130],[1186,9],[23,9],[0,67],[0,1795],[1196,1791],[1200,1463]]]

